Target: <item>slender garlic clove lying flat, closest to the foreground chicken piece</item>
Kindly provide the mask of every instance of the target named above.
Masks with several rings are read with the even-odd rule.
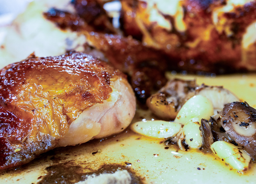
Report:
[[[168,138],[175,136],[181,124],[169,121],[139,121],[131,125],[132,131],[152,138]]]

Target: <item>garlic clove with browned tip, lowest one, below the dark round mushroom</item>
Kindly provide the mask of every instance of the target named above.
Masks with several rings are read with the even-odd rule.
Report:
[[[216,141],[211,145],[211,150],[237,171],[243,173],[248,169],[251,157],[242,148],[225,141]]]

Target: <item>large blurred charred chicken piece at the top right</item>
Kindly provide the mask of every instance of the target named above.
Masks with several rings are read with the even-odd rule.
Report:
[[[190,72],[256,70],[256,1],[121,0],[125,35]],[[228,53],[228,54],[227,54]]]

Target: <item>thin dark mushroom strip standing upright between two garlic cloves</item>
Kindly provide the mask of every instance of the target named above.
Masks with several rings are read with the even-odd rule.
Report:
[[[213,143],[212,130],[209,122],[206,119],[201,120],[199,129],[202,131],[203,137],[203,151],[211,152],[211,145]]]

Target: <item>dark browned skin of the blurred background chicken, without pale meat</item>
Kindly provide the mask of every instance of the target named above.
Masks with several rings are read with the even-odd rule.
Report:
[[[170,22],[171,30],[150,21],[147,1],[122,0],[121,3],[121,27],[127,37],[104,34],[115,33],[109,31],[111,29],[107,25],[102,29],[97,28],[97,20],[101,20],[103,15],[107,16],[97,0],[87,1],[87,4],[82,0],[74,1],[75,14],[61,11],[49,14],[49,11],[44,16],[62,29],[86,35],[90,46],[130,76],[130,83],[142,103],[145,103],[152,89],[164,85],[166,79],[163,74],[166,70],[221,74],[244,71],[255,65],[253,61],[250,66],[249,61],[242,62],[241,42],[246,27],[255,20],[256,1],[236,6],[231,12],[218,14],[219,22],[224,21],[224,25],[215,25],[213,12],[227,1],[180,1],[183,7],[182,21],[186,26],[184,31],[178,30],[176,15],[166,15],[160,10],[158,13]],[[95,16],[94,23],[92,15]],[[232,35],[225,32],[229,29]]]

